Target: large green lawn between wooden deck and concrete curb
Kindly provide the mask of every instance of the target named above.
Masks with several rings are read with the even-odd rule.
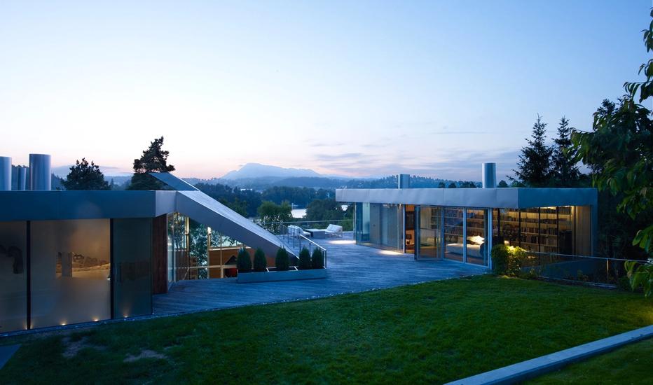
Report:
[[[445,382],[653,323],[642,295],[479,276],[0,340],[4,382]],[[165,359],[125,363],[149,349]]]

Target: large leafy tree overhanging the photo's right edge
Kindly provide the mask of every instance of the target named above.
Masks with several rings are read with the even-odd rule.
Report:
[[[653,18],[653,8],[650,11]],[[646,51],[653,50],[653,20],[644,31]],[[592,183],[599,190],[619,196],[617,210],[635,221],[650,216],[653,211],[653,120],[651,111],[642,102],[653,96],[653,58],[640,66],[646,80],[626,82],[626,95],[619,106],[605,104],[594,114],[591,132],[573,132],[572,142],[579,158],[592,167]],[[639,91],[639,96],[638,96]],[[650,105],[650,104],[648,104]],[[638,230],[633,238],[646,253],[653,252],[653,224]],[[653,283],[653,258],[637,267],[628,264],[631,286],[644,286],[651,295]]]

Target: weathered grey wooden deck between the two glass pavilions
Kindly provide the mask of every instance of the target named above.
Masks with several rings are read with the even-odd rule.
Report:
[[[413,255],[358,246],[351,233],[319,239],[327,250],[326,279],[236,283],[233,278],[179,281],[154,295],[154,315],[181,314],[356,293],[377,288],[483,274],[488,269],[450,260],[413,260]]]

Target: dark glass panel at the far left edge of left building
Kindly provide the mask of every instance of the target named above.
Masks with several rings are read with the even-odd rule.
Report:
[[[27,223],[0,222],[0,333],[27,329]]]

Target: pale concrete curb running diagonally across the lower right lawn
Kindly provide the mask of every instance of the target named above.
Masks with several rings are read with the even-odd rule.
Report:
[[[556,353],[547,354],[525,360],[521,363],[500,367],[499,369],[490,370],[472,377],[451,381],[446,385],[462,384],[514,384],[518,381],[524,381],[537,377],[547,372],[552,372],[560,367],[585,360],[601,353],[606,353],[617,349],[626,344],[641,341],[653,337],[653,325],[645,326],[631,330],[629,332],[613,335],[604,339],[598,339],[588,344],[572,347]]]

